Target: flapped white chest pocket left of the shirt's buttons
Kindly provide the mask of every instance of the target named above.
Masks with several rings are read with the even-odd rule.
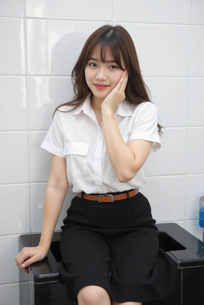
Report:
[[[89,143],[64,143],[63,155],[66,155],[67,176],[87,175],[87,152]]]

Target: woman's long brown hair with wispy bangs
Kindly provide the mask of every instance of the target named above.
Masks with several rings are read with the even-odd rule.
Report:
[[[151,102],[151,92],[147,85],[144,83],[140,66],[138,62],[138,56],[135,50],[134,42],[127,32],[121,25],[113,26],[111,24],[104,25],[99,29],[95,30],[87,39],[83,49],[78,57],[77,63],[72,70],[72,84],[75,96],[72,101],[66,102],[58,106],[56,110],[61,106],[75,106],[73,109],[61,112],[70,112],[77,109],[85,101],[88,93],[91,91],[87,85],[85,79],[85,67],[88,63],[90,53],[95,46],[100,48],[100,58],[103,63],[106,63],[106,50],[111,50],[112,56],[121,70],[124,71],[121,65],[121,55],[123,56],[124,62],[127,66],[128,81],[125,87],[125,100],[129,104],[141,104],[142,102]],[[150,99],[148,97],[147,90],[150,93]],[[151,102],[152,103],[152,102]],[[54,116],[53,113],[53,116]],[[163,135],[161,128],[157,125],[158,133]]]

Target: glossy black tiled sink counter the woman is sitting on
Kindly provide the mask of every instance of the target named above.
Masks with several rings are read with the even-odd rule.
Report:
[[[204,243],[178,224],[155,224],[159,230],[159,247],[178,264],[177,290],[174,297],[142,305],[204,304]],[[23,247],[38,246],[40,233],[19,236]],[[46,258],[31,264],[29,274],[19,269],[20,305],[77,305],[60,274],[60,231],[54,232]]]

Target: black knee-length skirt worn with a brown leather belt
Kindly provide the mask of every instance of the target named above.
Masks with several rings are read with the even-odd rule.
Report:
[[[112,203],[74,197],[61,226],[59,267],[74,300],[87,285],[103,287],[118,303],[174,296],[178,265],[159,248],[155,222],[140,192]]]

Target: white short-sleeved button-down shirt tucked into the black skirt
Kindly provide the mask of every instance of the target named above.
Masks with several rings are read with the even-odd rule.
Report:
[[[118,180],[107,156],[103,123],[99,126],[90,105],[91,94],[92,91],[74,111],[56,111],[40,147],[66,158],[67,180],[73,192],[104,194],[142,188],[146,182],[143,168],[128,182]],[[66,111],[73,109],[73,106],[61,106],[59,109]],[[142,102],[127,106],[123,101],[115,109],[114,115],[126,144],[133,139],[144,139],[153,142],[150,152],[160,149],[155,104]]]

